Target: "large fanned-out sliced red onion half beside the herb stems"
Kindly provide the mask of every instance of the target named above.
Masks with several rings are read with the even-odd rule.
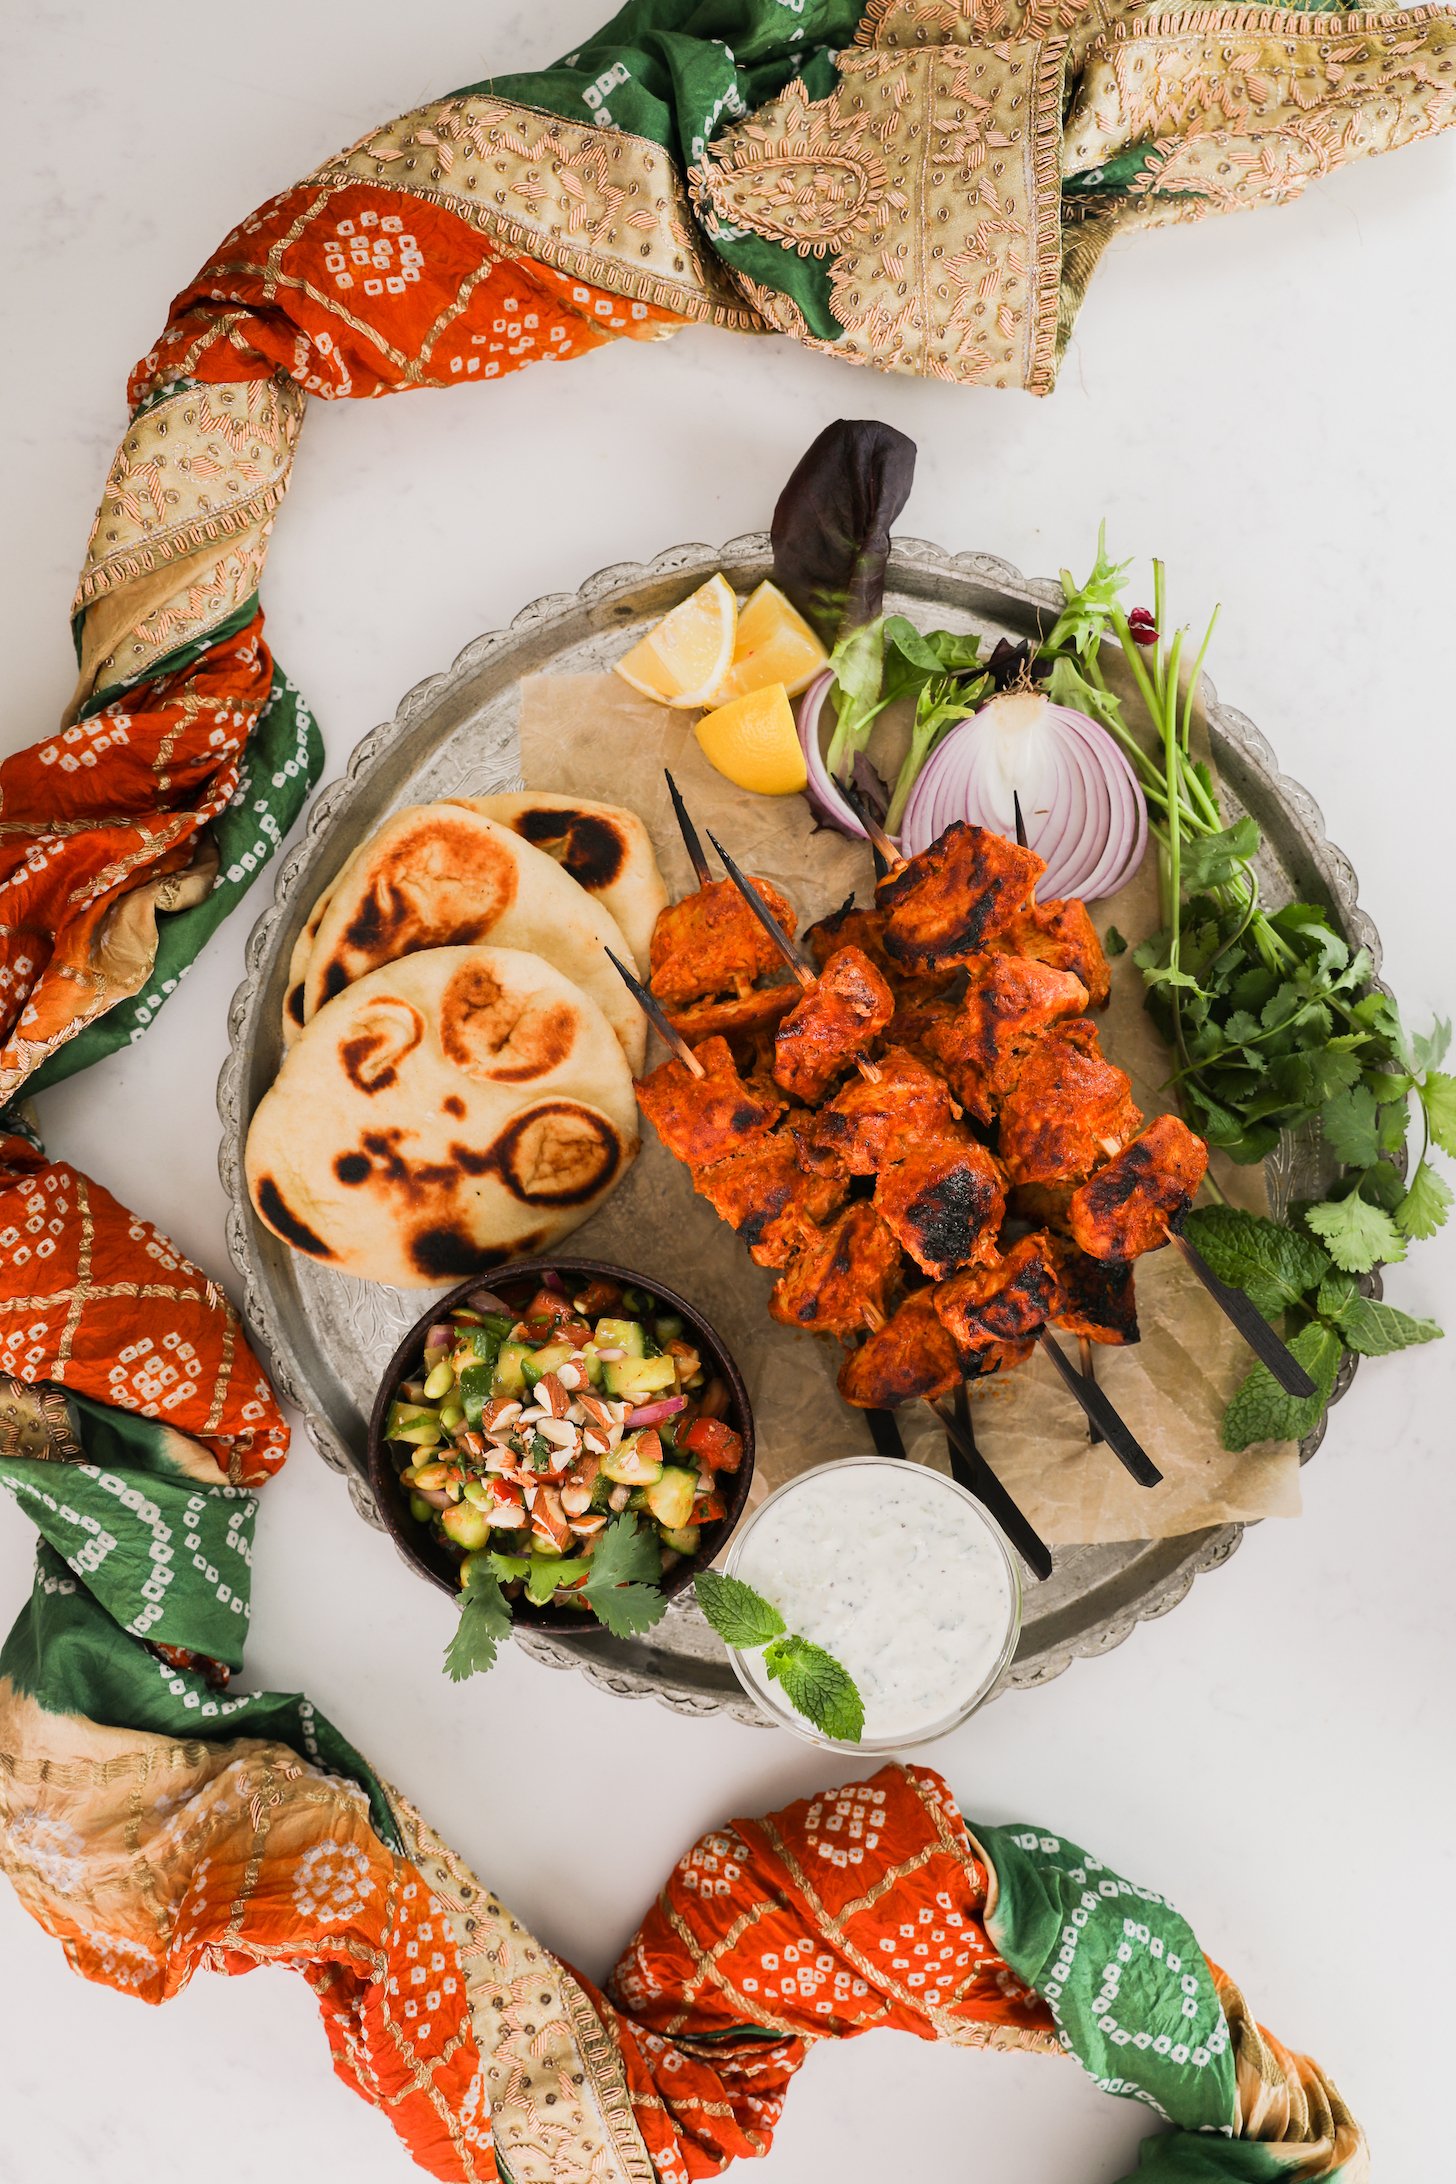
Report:
[[[919,856],[956,819],[1011,834],[1013,793],[1028,847],[1046,860],[1041,902],[1098,902],[1137,871],[1148,808],[1129,758],[1100,721],[1019,690],[991,699],[930,753],[899,845]]]

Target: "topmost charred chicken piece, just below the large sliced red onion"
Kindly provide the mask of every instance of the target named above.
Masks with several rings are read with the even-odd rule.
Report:
[[[956,819],[875,887],[886,954],[912,972],[967,963],[1026,915],[1043,871],[1033,850]]]

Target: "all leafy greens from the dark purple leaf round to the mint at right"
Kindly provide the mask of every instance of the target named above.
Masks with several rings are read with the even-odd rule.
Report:
[[[808,450],[775,511],[775,581],[832,646],[832,684],[812,695],[810,725],[830,703],[834,729],[823,753],[816,734],[805,740],[810,804],[827,826],[862,832],[856,815],[869,810],[895,832],[945,738],[1013,688],[1041,690],[1115,740],[1157,845],[1161,926],[1133,961],[1174,1057],[1177,1105],[1236,1162],[1264,1160],[1299,1129],[1318,1129],[1329,1153],[1323,1197],[1292,1206],[1286,1221],[1214,1203],[1188,1227],[1225,1282],[1286,1321],[1316,1385],[1316,1396],[1297,1400],[1257,1365],[1229,1404],[1225,1444],[1301,1437],[1329,1400],[1345,1350],[1377,1356],[1441,1334],[1430,1319],[1373,1302],[1360,1278],[1401,1260],[1452,1208],[1434,1158],[1456,1155],[1456,1077],[1441,1068],[1452,1026],[1439,1020],[1410,1035],[1373,983],[1367,950],[1351,948],[1321,904],[1264,904],[1260,828],[1246,815],[1225,819],[1194,745],[1216,616],[1196,646],[1183,629],[1168,633],[1161,563],[1153,605],[1129,609],[1131,563],[1109,559],[1100,537],[1085,583],[1063,570],[1063,607],[1046,638],[1000,640],[984,657],[976,636],[917,631],[882,614],[888,531],[912,474],[912,441],[840,419]],[[1113,688],[1113,664],[1131,699]],[[873,736],[895,701],[912,701],[915,719],[886,784]],[[1113,930],[1109,954],[1124,948]]]

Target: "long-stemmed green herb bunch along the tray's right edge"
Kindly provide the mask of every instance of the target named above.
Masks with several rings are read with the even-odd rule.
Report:
[[[1356,1278],[1401,1260],[1452,1208],[1432,1158],[1456,1155],[1456,1077],[1441,1070],[1452,1026],[1410,1037],[1395,1000],[1371,985],[1367,950],[1351,950],[1318,904],[1264,906],[1260,828],[1249,817],[1225,821],[1214,778],[1192,753],[1194,695],[1218,616],[1185,675],[1185,631],[1163,636],[1161,561],[1150,614],[1124,612],[1126,570],[1109,559],[1105,535],[1083,585],[1063,570],[1065,605],[1037,664],[1054,701],[1118,738],[1148,802],[1163,926],[1133,961],[1174,1055],[1172,1090],[1194,1129],[1231,1160],[1264,1160],[1284,1131],[1316,1127],[1336,1162],[1327,1195],[1299,1206],[1292,1223],[1231,1208],[1190,1221],[1225,1282],[1249,1291],[1266,1317],[1288,1317],[1290,1348],[1321,1391],[1297,1402],[1255,1367],[1225,1417],[1225,1444],[1246,1448],[1308,1433],[1347,1348],[1375,1356],[1441,1334],[1430,1319],[1373,1304]],[[1126,664],[1150,747],[1129,727],[1105,653]]]

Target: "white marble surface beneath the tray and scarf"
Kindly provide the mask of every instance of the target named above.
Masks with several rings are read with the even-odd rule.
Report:
[[[168,297],[253,203],[369,122],[548,61],[598,7],[2,13],[7,747],[44,734],[70,690],[72,581],[127,369]],[[1137,238],[1109,253],[1050,402],[690,332],[489,393],[341,404],[303,435],[268,636],[334,771],[480,629],[607,561],[766,522],[819,426],[873,411],[921,443],[906,529],[1041,574],[1083,563],[1105,513],[1120,546],[1168,559],[1190,614],[1222,598],[1222,695],[1316,788],[1410,1013],[1449,1009],[1454,221],[1447,140],[1277,214]],[[44,1101],[52,1147],[214,1271],[214,1079],[268,885],[138,1048]],[[1395,1269],[1388,1295],[1456,1321],[1456,1234]],[[1362,1369],[1299,1522],[1266,1524],[1170,1621],[930,1754],[971,1813],[1043,1819],[1170,1889],[1266,2022],[1336,2073],[1388,2180],[1443,2164],[1454,1356]],[[303,1444],[258,1544],[249,1675],[306,1684],[594,1974],[703,1826],[825,1776],[784,1734],[683,1723],[515,1658],[452,1688],[447,1603],[406,1581]],[[7,1503],[0,1601],[20,1605],[28,1566]],[[76,1981],[9,1891],[0,2055],[4,2184],[170,2184],[218,2160],[234,2184],[408,2173],[332,2079],[301,1983],[199,1979],[157,2018]],[[910,2162],[1105,2184],[1142,2129],[1070,2066],[878,2035],[812,2057],[764,2180],[873,2184]]]

